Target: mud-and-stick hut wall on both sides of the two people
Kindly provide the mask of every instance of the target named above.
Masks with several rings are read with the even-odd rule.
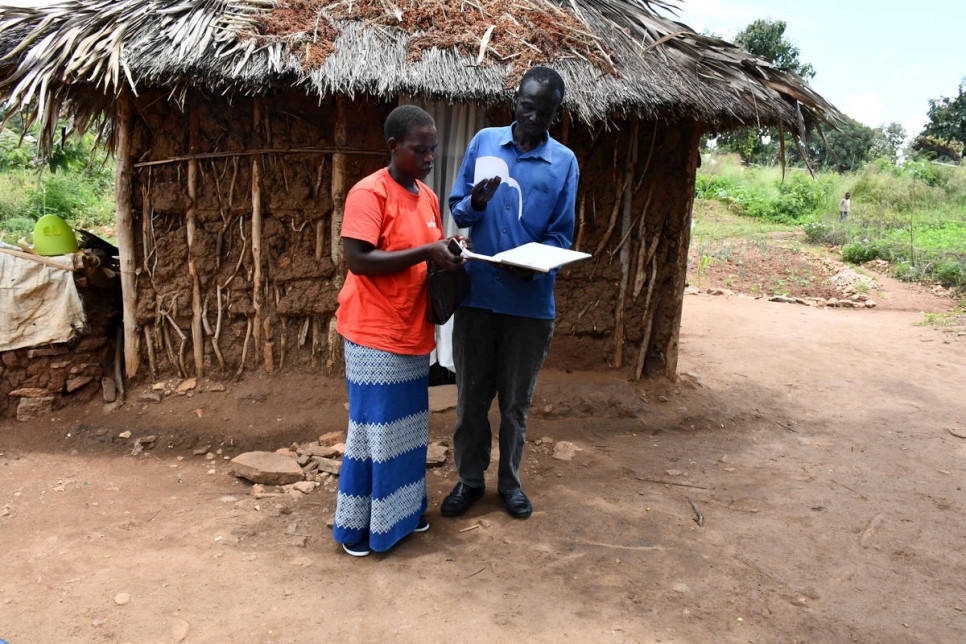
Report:
[[[215,377],[340,368],[331,322],[345,267],[333,229],[345,190],[387,161],[392,107],[357,97],[340,109],[336,98],[295,93],[228,105],[192,92],[183,110],[166,94],[136,99],[137,322],[151,376],[197,375],[198,337],[202,371]],[[551,364],[673,376],[699,128],[565,118],[552,134],[577,155],[575,247],[594,257],[559,275]]]

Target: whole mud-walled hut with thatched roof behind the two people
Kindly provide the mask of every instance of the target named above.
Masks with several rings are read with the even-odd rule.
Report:
[[[673,376],[700,137],[836,114],[660,0],[78,0],[0,12],[0,96],[117,159],[126,374],[338,370],[348,187],[400,102],[437,119],[445,201],[531,65],[567,83],[580,163],[554,353]]]

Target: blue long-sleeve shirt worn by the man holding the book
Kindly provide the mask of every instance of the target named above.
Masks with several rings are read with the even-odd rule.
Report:
[[[449,197],[453,219],[460,228],[470,229],[473,252],[483,255],[495,255],[530,242],[570,248],[580,178],[577,158],[546,134],[543,143],[521,153],[513,141],[515,125],[486,128],[473,137]],[[486,156],[506,162],[510,177],[520,184],[520,192],[504,181],[486,209],[480,211],[473,209],[470,191],[476,160]],[[544,320],[556,317],[553,287],[557,271],[536,273],[533,280],[526,281],[487,262],[467,262],[466,270],[470,274],[470,294],[462,306]]]

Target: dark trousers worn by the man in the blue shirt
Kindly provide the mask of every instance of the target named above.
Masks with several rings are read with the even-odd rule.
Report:
[[[497,489],[520,489],[520,462],[527,438],[527,410],[553,337],[553,320],[461,308],[453,322],[456,366],[456,431],[453,453],[460,481],[484,485],[492,432],[488,413],[500,405],[500,468]]]

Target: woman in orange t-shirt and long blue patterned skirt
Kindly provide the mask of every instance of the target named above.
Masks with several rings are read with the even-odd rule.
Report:
[[[333,537],[355,557],[424,532],[429,442],[426,260],[455,270],[466,260],[443,239],[439,200],[422,180],[433,169],[436,125],[414,105],[385,124],[389,167],[349,191],[342,244],[349,274],[339,293],[349,433]]]

